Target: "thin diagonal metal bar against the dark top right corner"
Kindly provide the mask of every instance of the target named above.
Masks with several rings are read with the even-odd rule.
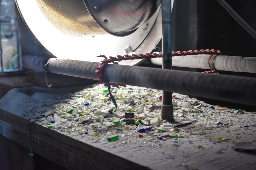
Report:
[[[244,21],[243,18],[241,18],[236,11],[233,10],[233,8],[224,0],[217,0],[227,11],[228,13],[236,19],[236,21],[249,33],[252,35],[253,38],[256,39],[256,31],[249,25],[247,22]]]

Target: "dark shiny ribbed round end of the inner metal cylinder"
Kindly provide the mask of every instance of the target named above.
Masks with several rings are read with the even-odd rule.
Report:
[[[126,36],[146,23],[161,0],[84,0],[94,20],[106,32]]]

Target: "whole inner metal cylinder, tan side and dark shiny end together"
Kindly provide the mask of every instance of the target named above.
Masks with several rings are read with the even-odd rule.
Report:
[[[153,16],[161,1],[36,0],[36,3],[53,26],[70,36],[106,33],[127,36]]]

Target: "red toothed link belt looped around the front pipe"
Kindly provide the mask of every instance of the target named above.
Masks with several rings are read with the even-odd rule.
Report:
[[[180,55],[198,55],[198,54],[212,54],[212,55],[220,55],[222,54],[219,50],[215,51],[214,49],[209,50],[189,50],[189,51],[177,51],[177,52],[172,52],[172,56],[180,56]],[[108,63],[113,63],[116,61],[122,61],[122,60],[135,60],[135,59],[146,59],[146,58],[161,58],[162,57],[162,53],[160,52],[159,54],[156,53],[152,53],[152,54],[148,54],[146,53],[145,55],[143,54],[139,54],[139,55],[117,55],[117,57],[109,57],[109,59],[105,56],[105,55],[100,55],[98,57],[104,57],[105,59],[103,61],[101,61],[101,64],[99,67],[97,67],[96,69],[96,73],[97,73],[97,80],[99,81],[99,84],[103,84],[105,86],[107,86],[107,83],[103,81],[103,69],[106,67],[106,65],[108,65]],[[212,70],[213,71],[213,70]],[[217,71],[217,70],[215,70]],[[212,72],[214,73],[214,72]],[[214,74],[218,74],[218,73],[214,73]],[[116,83],[109,83],[109,85],[112,85],[113,87],[119,87],[119,86],[124,86],[126,87],[126,85],[121,85],[121,84],[116,84]]]

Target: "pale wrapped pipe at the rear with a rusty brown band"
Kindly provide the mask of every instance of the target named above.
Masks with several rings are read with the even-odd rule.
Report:
[[[161,65],[160,58],[151,58],[153,64]],[[228,55],[182,55],[172,57],[172,66],[256,73],[256,57]]]

